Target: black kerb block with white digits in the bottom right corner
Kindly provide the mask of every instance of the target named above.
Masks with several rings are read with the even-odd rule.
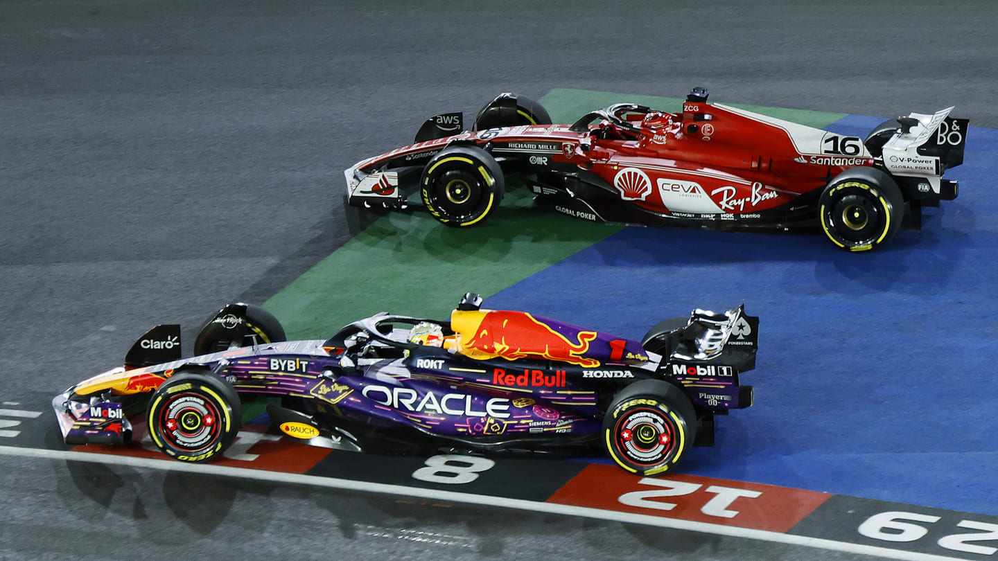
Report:
[[[842,495],[788,533],[947,558],[998,558],[998,516]]]

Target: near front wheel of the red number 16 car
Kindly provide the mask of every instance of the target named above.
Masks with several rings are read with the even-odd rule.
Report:
[[[441,150],[426,164],[420,196],[426,210],[447,226],[477,224],[502,201],[502,169],[489,153],[475,146]]]

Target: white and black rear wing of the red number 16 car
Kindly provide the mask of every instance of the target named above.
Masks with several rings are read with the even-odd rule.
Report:
[[[883,164],[904,176],[937,176],[963,164],[969,119],[954,119],[948,107],[932,115],[898,117],[898,132],[883,146]]]

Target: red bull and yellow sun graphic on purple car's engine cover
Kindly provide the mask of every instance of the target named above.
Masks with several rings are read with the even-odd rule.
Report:
[[[525,311],[458,311],[451,326],[461,333],[461,351],[472,357],[546,358],[580,366],[599,366],[600,361],[584,356],[596,331],[575,331],[575,340]],[[470,336],[469,333],[473,333]]]

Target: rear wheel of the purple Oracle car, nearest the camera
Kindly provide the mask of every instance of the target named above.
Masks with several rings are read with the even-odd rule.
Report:
[[[603,417],[603,443],[617,465],[638,475],[679,463],[697,436],[697,411],[682,389],[641,380],[618,393]]]

